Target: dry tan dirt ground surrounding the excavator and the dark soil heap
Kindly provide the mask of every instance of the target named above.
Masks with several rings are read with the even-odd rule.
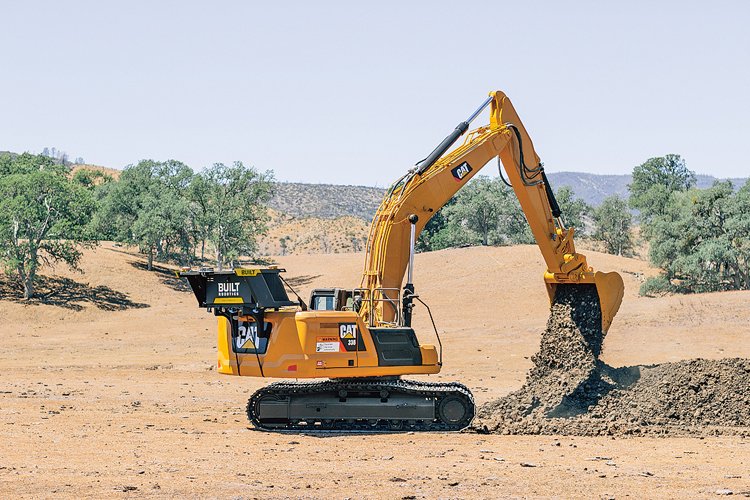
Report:
[[[359,283],[361,254],[277,260],[303,296]],[[589,260],[627,286],[606,363],[750,357],[750,293],[640,298],[645,263]],[[83,268],[58,270],[47,289],[64,290],[52,304],[0,301],[0,497],[750,495],[750,439],[738,436],[255,431],[243,409],[264,381],[213,371],[214,318],[182,283],[111,244],[87,251]],[[479,404],[521,386],[549,310],[542,268],[531,246],[417,257],[415,281],[445,346],[437,379],[464,382]],[[431,342],[425,312],[415,320]]]

